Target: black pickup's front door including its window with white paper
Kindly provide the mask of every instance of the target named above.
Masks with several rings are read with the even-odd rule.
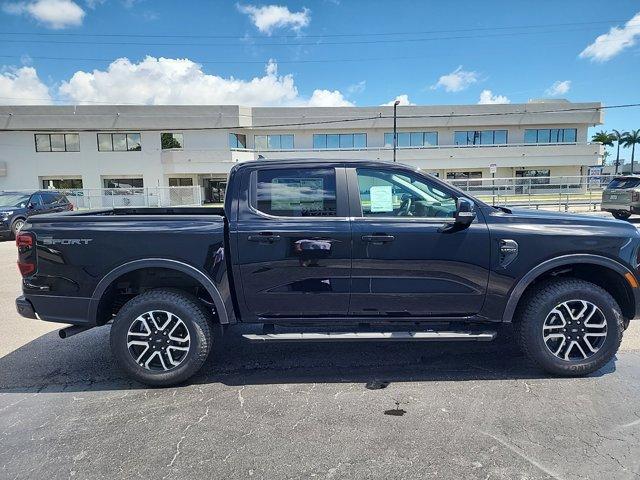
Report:
[[[407,169],[348,169],[353,218],[350,314],[468,316],[482,308],[490,240],[482,218],[460,231],[457,192]]]

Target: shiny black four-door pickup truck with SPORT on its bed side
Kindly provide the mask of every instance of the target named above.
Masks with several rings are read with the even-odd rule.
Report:
[[[27,318],[62,337],[112,322],[135,379],[193,375],[214,325],[253,341],[475,340],[513,325],[541,368],[583,375],[638,313],[627,222],[511,211],[399,164],[258,160],[224,208],[29,217],[16,240]],[[286,328],[285,328],[286,327]]]

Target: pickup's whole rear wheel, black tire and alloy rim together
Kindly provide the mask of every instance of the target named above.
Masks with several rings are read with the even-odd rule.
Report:
[[[211,314],[192,295],[150,290],[127,302],[111,327],[111,351],[135,380],[154,386],[184,382],[211,350]]]

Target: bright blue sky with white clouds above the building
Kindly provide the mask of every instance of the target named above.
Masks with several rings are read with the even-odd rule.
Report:
[[[0,7],[5,104],[640,102],[637,0]],[[608,111],[604,128],[640,128],[639,112]]]

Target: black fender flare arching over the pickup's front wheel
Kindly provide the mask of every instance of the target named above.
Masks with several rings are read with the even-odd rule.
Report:
[[[636,311],[636,293],[625,278],[625,275],[628,273],[633,275],[635,278],[633,272],[621,263],[607,257],[592,254],[574,254],[563,255],[561,257],[552,258],[550,260],[542,262],[540,265],[537,265],[535,268],[531,269],[524,276],[522,276],[520,280],[518,280],[516,285],[511,289],[509,299],[502,315],[502,321],[507,323],[513,321],[516,309],[518,308],[518,305],[520,303],[520,300],[524,296],[524,293],[537,280],[555,271],[561,272],[563,269],[562,267],[578,269],[579,271],[580,269],[584,269],[585,267],[588,268],[589,266],[604,269],[605,271],[608,271],[612,275],[614,275],[612,276],[612,278],[617,281],[616,285],[600,286],[605,288],[605,290],[608,290],[609,293],[611,293],[612,296],[616,299],[616,301],[618,301],[625,317],[633,318]],[[578,278],[584,277],[578,276]],[[586,280],[590,279],[586,278]],[[624,296],[622,295],[622,292],[616,291],[614,289],[614,287],[621,285],[624,287]]]

